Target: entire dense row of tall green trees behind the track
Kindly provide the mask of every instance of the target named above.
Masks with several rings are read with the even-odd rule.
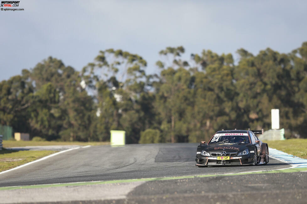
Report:
[[[240,49],[236,63],[184,52],[161,50],[153,75],[122,50],[100,51],[80,72],[49,57],[0,82],[0,124],[48,140],[107,141],[116,129],[128,143],[199,142],[222,128],[270,129],[279,108],[288,137],[307,137],[307,42],[288,54]]]

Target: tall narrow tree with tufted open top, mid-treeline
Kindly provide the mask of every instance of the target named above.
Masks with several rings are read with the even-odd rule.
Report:
[[[167,47],[159,54],[164,61],[157,61],[156,65],[162,69],[159,82],[154,84],[156,101],[155,109],[161,121],[160,129],[165,141],[171,143],[187,141],[186,108],[192,100],[191,74],[187,70],[189,64],[181,60],[184,48]],[[169,137],[168,137],[169,136]]]

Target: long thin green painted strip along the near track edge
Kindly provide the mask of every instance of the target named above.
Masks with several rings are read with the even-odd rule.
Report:
[[[84,186],[84,185],[97,185],[97,184],[129,183],[129,182],[137,182],[137,181],[157,181],[157,180],[175,180],[175,179],[204,178],[204,177],[216,177],[216,176],[235,176],[235,175],[247,175],[247,174],[293,173],[293,172],[300,172],[300,171],[307,171],[307,168],[289,168],[289,169],[281,169],[281,170],[265,170],[265,171],[242,172],[242,173],[233,173],[233,174],[170,176],[170,177],[160,177],[160,178],[90,181],[90,182],[42,184],[42,185],[30,185],[30,186],[4,186],[4,187],[0,187],[0,191],[15,190],[15,189],[31,189],[31,188],[51,188],[51,187],[60,187],[60,186]]]

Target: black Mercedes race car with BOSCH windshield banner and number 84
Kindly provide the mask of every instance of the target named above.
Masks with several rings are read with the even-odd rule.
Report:
[[[218,131],[197,147],[196,166],[266,165],[269,148],[256,134],[263,134],[263,129]]]

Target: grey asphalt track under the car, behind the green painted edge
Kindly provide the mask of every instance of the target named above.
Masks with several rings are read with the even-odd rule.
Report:
[[[271,159],[268,165],[195,166],[198,144],[132,144],[72,150],[0,175],[0,186],[137,179],[178,175],[238,173],[290,167]]]

